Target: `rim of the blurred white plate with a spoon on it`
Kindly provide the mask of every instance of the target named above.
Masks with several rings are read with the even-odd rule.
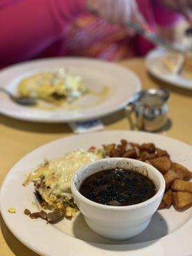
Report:
[[[16,65],[12,65],[8,68],[3,68],[0,72],[0,86],[6,86],[6,84],[1,84],[1,79],[3,76],[8,76],[9,72],[16,72],[15,76],[17,76],[17,70],[19,70],[20,68],[24,67],[30,67],[31,64],[34,66],[38,65],[39,63],[44,63],[44,61],[46,61],[47,64],[51,63],[51,62],[61,62],[63,61],[63,63],[65,62],[65,65],[67,65],[67,61],[68,62],[72,62],[74,61],[74,63],[79,63],[79,65],[81,65],[81,63],[86,63],[87,65],[100,65],[100,67],[106,67],[106,68],[111,68],[111,70],[116,70],[116,73],[118,72],[122,72],[124,73],[124,77],[126,77],[125,79],[127,79],[127,77],[130,77],[130,79],[132,79],[132,81],[134,81],[134,88],[131,89],[131,93],[129,93],[130,95],[127,95],[127,97],[125,97],[125,95],[123,95],[125,92],[124,90],[120,91],[122,92],[122,97],[124,98],[119,99],[118,102],[116,102],[114,104],[114,106],[106,106],[106,108],[102,108],[100,109],[100,111],[92,111],[92,113],[84,113],[83,109],[81,111],[81,115],[76,115],[76,116],[43,116],[43,115],[36,115],[36,116],[30,116],[30,110],[29,110],[29,115],[22,115],[22,111],[21,113],[13,113],[12,111],[10,111],[10,109],[8,108],[4,108],[1,104],[0,104],[0,113],[2,113],[3,115],[6,116],[10,116],[12,118],[17,118],[19,120],[26,120],[26,121],[32,121],[32,122],[52,122],[52,123],[59,123],[59,122],[76,122],[76,121],[81,121],[81,120],[90,120],[93,118],[99,118],[101,116],[106,116],[109,115],[111,113],[114,113],[116,111],[119,111],[120,109],[123,109],[127,103],[131,100],[131,97],[134,95],[134,93],[138,92],[141,90],[141,81],[138,78],[138,76],[136,76],[136,74],[134,74],[134,72],[132,72],[131,70],[129,70],[129,68],[124,68],[122,65],[116,64],[116,63],[109,63],[108,61],[101,61],[101,60],[95,60],[92,58],[76,58],[76,57],[70,57],[70,58],[47,58],[47,59],[40,59],[40,60],[33,60],[33,61],[26,61],[24,63],[18,63]],[[46,67],[44,67],[44,69],[46,69]],[[20,71],[20,70],[19,70]],[[29,72],[30,70],[25,70],[24,73]],[[111,71],[112,72],[112,71]],[[122,79],[124,79],[124,77]],[[7,81],[8,83],[9,81]],[[129,79],[127,79],[127,83],[129,84]],[[122,88],[124,88],[124,86],[126,86],[127,83],[122,83]],[[132,86],[131,84],[131,86]],[[127,89],[126,89],[127,92]],[[10,99],[7,98],[7,100],[10,101]],[[99,106],[99,105],[98,105]],[[46,111],[47,113],[49,111]],[[50,111],[50,113],[52,113]],[[50,114],[51,115],[51,114]]]

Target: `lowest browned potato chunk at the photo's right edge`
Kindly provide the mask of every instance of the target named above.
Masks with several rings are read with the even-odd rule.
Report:
[[[173,192],[173,205],[176,209],[182,209],[192,204],[192,194],[189,192]]]

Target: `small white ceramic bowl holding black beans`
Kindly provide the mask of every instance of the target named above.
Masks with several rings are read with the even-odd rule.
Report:
[[[156,195],[140,204],[110,206],[95,203],[79,193],[81,183],[86,177],[113,168],[133,170],[148,175],[156,185]],[[147,228],[161,203],[164,188],[164,177],[156,168],[150,164],[127,158],[106,158],[87,164],[74,174],[71,182],[72,195],[88,226],[100,236],[112,240],[129,239]]]

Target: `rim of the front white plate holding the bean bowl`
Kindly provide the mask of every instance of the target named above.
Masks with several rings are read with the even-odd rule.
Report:
[[[53,228],[51,225],[46,225],[45,221],[37,220],[31,221],[29,218],[25,218],[26,223],[18,223],[19,227],[22,224],[23,227],[17,228],[15,222],[10,223],[10,214],[7,211],[7,208],[4,207],[6,202],[6,191],[8,189],[8,184],[10,180],[14,179],[14,173],[17,172],[17,168],[20,168],[22,163],[28,163],[29,159],[34,160],[36,154],[41,152],[41,150],[50,150],[50,148],[58,147],[62,143],[66,145],[71,140],[79,140],[84,141],[89,139],[90,145],[92,144],[91,138],[92,136],[97,136],[98,138],[106,138],[109,136],[110,138],[130,138],[134,134],[137,137],[143,137],[143,142],[145,142],[145,138],[147,136],[148,140],[156,141],[156,140],[168,140],[168,143],[175,145],[176,147],[183,147],[186,150],[189,150],[189,155],[191,156],[191,147],[186,145],[180,141],[173,140],[171,138],[166,138],[164,136],[160,136],[157,134],[150,134],[147,132],[131,132],[131,131],[105,131],[105,132],[97,132],[95,134],[85,134],[79,136],[69,136],[67,138],[63,138],[60,140],[52,141],[51,143],[47,143],[42,147],[37,148],[33,152],[29,153],[27,156],[23,157],[15,166],[13,166],[12,170],[6,176],[4,180],[3,186],[1,188],[0,202],[1,202],[1,214],[3,219],[10,228],[11,232],[26,246],[28,246],[31,250],[39,253],[40,255],[46,256],[56,256],[61,253],[65,253],[65,255],[102,255],[111,256],[111,255],[128,255],[129,256],[165,256],[165,255],[174,255],[174,256],[188,256],[192,252],[192,244],[191,244],[191,228],[192,228],[192,220],[190,219],[185,225],[183,225],[179,230],[162,237],[161,239],[157,239],[150,242],[138,243],[138,244],[124,244],[124,245],[107,245],[107,244],[94,244],[94,243],[86,243],[86,241],[82,241],[80,239],[76,239],[74,237],[67,236],[66,234],[61,233],[60,231]],[[154,139],[154,140],[153,140]],[[83,144],[83,142],[82,142]],[[83,147],[83,145],[82,145]],[[64,152],[65,153],[65,152]],[[54,153],[53,153],[54,154]],[[42,156],[43,158],[44,156]],[[52,156],[54,157],[54,156]],[[20,184],[22,184],[22,180],[20,180]],[[11,214],[12,215],[12,214]],[[17,216],[16,214],[13,214]],[[24,215],[24,214],[23,214]],[[17,218],[17,217],[16,217]],[[15,227],[14,227],[15,225]],[[28,227],[25,227],[25,226]],[[24,230],[22,230],[24,228]],[[31,231],[24,232],[25,228]],[[38,234],[38,236],[34,236],[34,234]],[[40,238],[41,237],[41,242]],[[53,238],[54,237],[54,238]],[[178,243],[176,243],[178,241]],[[67,246],[65,246],[67,244]],[[127,248],[129,248],[129,252],[127,252]],[[184,253],[184,254],[183,254]]]

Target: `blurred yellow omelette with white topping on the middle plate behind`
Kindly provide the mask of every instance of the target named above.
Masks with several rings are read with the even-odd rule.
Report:
[[[59,68],[56,72],[41,72],[22,79],[18,92],[23,97],[38,97],[60,105],[85,95],[88,93],[88,87],[81,76]]]

